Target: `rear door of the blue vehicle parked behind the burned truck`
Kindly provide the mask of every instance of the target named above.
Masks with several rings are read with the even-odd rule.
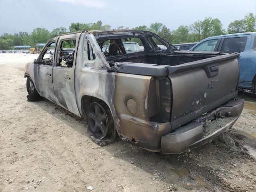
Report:
[[[252,37],[250,35],[236,35],[223,37],[218,51],[239,53],[238,57],[240,78],[239,87],[252,88],[252,68],[248,59],[248,50]]]

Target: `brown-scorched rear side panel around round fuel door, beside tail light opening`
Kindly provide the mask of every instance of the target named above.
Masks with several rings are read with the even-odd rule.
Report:
[[[150,76],[118,74],[116,76],[115,108],[120,120],[119,134],[124,140],[131,140],[142,147],[143,144],[147,144],[151,150],[159,150],[160,136],[170,132],[170,123],[160,125],[150,122],[150,116],[153,115],[150,111],[155,108],[157,112],[157,106],[149,104],[152,102],[152,98],[148,98],[150,83],[152,83]],[[150,91],[153,92],[153,90]],[[153,94],[156,95],[156,90]],[[133,99],[138,106],[136,114],[131,114],[126,107],[129,99]]]

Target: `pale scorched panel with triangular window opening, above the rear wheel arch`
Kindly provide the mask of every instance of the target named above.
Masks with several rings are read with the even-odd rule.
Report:
[[[87,41],[93,45],[95,60],[88,60]],[[115,75],[108,73],[109,64],[101,52],[94,36],[90,33],[82,33],[78,44],[76,68],[75,68],[75,92],[76,103],[80,114],[85,116],[82,106],[83,96],[92,96],[103,100],[109,106],[117,128],[114,108]]]

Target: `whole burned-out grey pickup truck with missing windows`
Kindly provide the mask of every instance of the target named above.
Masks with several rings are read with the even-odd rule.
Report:
[[[87,117],[100,145],[118,134],[146,150],[179,154],[211,142],[240,116],[238,56],[178,51],[141,30],[64,34],[26,64],[27,98],[44,97]]]

